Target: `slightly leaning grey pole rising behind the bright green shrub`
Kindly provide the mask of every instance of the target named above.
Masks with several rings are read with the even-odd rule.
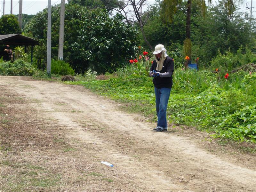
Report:
[[[61,0],[61,3],[60,3],[59,60],[63,60],[64,20],[65,20],[65,0]]]

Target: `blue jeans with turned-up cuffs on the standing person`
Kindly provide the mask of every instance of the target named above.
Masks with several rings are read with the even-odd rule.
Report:
[[[155,87],[157,126],[161,127],[161,129],[167,128],[166,109],[170,92],[170,88],[158,89]]]

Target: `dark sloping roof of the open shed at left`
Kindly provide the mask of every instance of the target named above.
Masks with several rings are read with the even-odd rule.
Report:
[[[39,45],[39,42],[33,38],[20,35],[20,34],[8,34],[0,35],[0,44],[6,45]]]

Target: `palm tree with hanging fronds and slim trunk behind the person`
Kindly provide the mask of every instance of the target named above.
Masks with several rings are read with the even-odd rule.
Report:
[[[161,15],[164,18],[165,21],[172,22],[174,14],[178,8],[178,5],[181,4],[182,0],[163,0],[162,9],[161,9]],[[196,3],[201,6],[202,14],[205,16],[206,11],[206,4],[205,0],[187,0],[187,11],[186,11],[186,39],[184,40],[184,53],[185,56],[188,56],[191,58],[191,39],[190,39],[190,17],[191,17],[191,4]],[[235,11],[235,4],[236,2],[239,2],[242,6],[243,0],[225,0],[224,4],[225,7],[228,10],[228,15],[231,16],[231,14]],[[207,0],[208,4],[212,4],[212,0]]]

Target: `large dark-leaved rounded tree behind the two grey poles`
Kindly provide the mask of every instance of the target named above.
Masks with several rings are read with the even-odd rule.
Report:
[[[58,56],[60,5],[52,7],[52,58]],[[115,70],[134,54],[136,30],[125,24],[123,16],[109,17],[104,9],[89,11],[78,4],[66,4],[63,58],[76,72],[91,67],[100,73]],[[39,12],[25,27],[40,41],[35,55],[46,61],[47,9]]]

